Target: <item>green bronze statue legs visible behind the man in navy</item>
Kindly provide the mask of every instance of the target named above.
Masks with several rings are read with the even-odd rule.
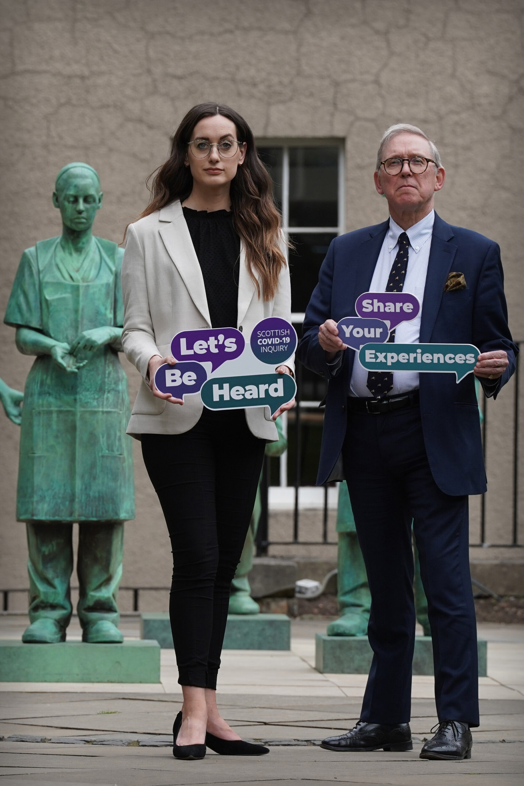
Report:
[[[337,600],[339,619],[328,625],[328,636],[367,636],[371,593],[361,547],[358,545],[355,520],[351,510],[350,495],[344,480],[339,487],[339,509],[336,518],[339,535],[339,572],[337,574]],[[422,625],[424,636],[431,636],[427,619],[427,600],[420,578],[419,556],[414,546],[416,619]]]

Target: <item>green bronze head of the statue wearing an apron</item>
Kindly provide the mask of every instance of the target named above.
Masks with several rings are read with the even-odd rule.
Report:
[[[57,174],[53,205],[60,210],[62,222],[70,230],[85,232],[93,226],[102,207],[100,178],[88,163],[68,163]]]

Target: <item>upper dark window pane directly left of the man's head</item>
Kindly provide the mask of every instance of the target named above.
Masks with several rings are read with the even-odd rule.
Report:
[[[339,149],[289,149],[289,226],[339,225]]]

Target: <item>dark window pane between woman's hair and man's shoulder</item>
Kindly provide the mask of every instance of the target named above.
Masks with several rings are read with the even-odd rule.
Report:
[[[291,311],[305,311],[311,293],[318,284],[318,271],[334,233],[291,234],[295,250],[289,252],[291,273]]]

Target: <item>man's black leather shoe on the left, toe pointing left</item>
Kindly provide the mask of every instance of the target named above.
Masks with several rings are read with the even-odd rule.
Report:
[[[322,740],[326,751],[412,751],[409,723],[366,723],[358,721],[354,729]]]

